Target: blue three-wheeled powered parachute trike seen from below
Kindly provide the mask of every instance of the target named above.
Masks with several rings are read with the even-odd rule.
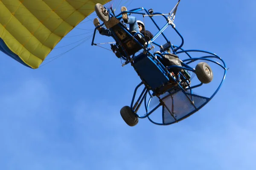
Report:
[[[153,9],[136,8],[129,11],[122,11],[115,14],[112,8],[105,8],[100,3],[96,4],[96,14],[102,24],[113,34],[115,43],[111,44],[111,49],[116,57],[125,60],[122,66],[131,64],[141,79],[141,82],[134,90],[131,105],[121,109],[120,114],[129,126],[137,125],[138,118],[148,118],[157,125],[170,125],[179,122],[193,113],[199,111],[206,105],[220,89],[225,76],[226,65],[223,59],[217,54],[203,50],[185,50],[182,48],[184,40],[174,24],[177,6],[180,0],[169,14],[154,12]],[[122,14],[148,16],[157,28],[157,33],[151,40],[148,40],[143,34],[131,32],[122,22]],[[167,15],[167,16],[166,16]],[[166,23],[159,26],[155,21],[155,16],[164,17]],[[174,45],[165,34],[167,27],[171,27],[180,37],[181,44]],[[94,30],[92,45],[94,43],[96,27]],[[156,40],[162,36],[165,42],[157,43]],[[154,51],[154,48],[157,48]],[[193,52],[203,54],[201,57],[194,57]],[[181,59],[181,55],[186,57]],[[209,96],[193,93],[194,89],[211,84],[213,80],[213,70],[208,64],[214,65],[214,68],[221,68],[218,71],[219,82],[214,91]],[[222,74],[220,74],[222,72]],[[199,81],[192,79],[195,74]],[[192,82],[196,82],[193,85]],[[138,89],[142,88],[140,92]],[[212,88],[212,87],[211,87]],[[207,91],[207,89],[204,89]],[[157,99],[157,104],[155,104]],[[151,103],[154,106],[151,107]],[[141,106],[145,107],[145,114],[138,114]],[[153,113],[158,112],[157,121],[152,119]]]

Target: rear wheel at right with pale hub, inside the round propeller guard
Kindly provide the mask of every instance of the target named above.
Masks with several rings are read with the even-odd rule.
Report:
[[[196,65],[195,74],[199,81],[204,84],[211,82],[213,79],[212,68],[206,62],[199,62]]]

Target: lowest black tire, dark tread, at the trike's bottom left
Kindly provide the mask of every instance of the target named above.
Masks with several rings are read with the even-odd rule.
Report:
[[[124,106],[120,110],[120,114],[124,119],[125,123],[129,126],[135,126],[139,122],[138,117],[135,116],[135,114],[131,111],[131,108],[129,106]]]

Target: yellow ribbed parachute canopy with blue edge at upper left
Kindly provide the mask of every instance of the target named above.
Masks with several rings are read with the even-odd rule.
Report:
[[[57,43],[110,0],[0,0],[0,50],[38,68]]]

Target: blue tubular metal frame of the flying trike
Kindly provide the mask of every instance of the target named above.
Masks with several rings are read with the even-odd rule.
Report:
[[[131,11],[123,11],[121,12],[120,14],[113,14],[111,13],[111,9],[108,9],[109,11],[109,14],[110,14],[110,18],[111,17],[116,17],[117,19],[121,20],[122,19],[122,14],[124,12],[127,12],[128,15],[129,14],[141,14],[141,15],[145,15],[145,14],[150,14],[148,12],[148,10],[146,8],[136,8],[136,9],[132,9]],[[144,11],[144,12],[141,12],[141,11]],[[152,16],[154,15],[159,15],[159,14],[162,14],[162,13],[159,13],[159,12],[155,12],[153,14],[150,14]],[[212,94],[212,96],[210,97],[204,97],[204,96],[198,96],[196,94],[193,94],[193,89],[194,88],[198,88],[199,86],[203,85],[203,83],[199,83],[198,85],[194,85],[192,87],[190,87],[190,85],[188,87],[186,87],[185,89],[180,85],[179,83],[179,80],[180,79],[184,79],[184,75],[183,74],[179,74],[178,77],[173,77],[171,76],[170,77],[170,80],[172,80],[172,82],[174,82],[174,84],[176,83],[176,85],[172,86],[171,88],[169,88],[168,90],[166,90],[164,93],[169,93],[167,96],[165,97],[161,97],[159,94],[157,94],[156,91],[154,91],[154,89],[151,89],[151,87],[148,86],[148,84],[144,81],[140,82],[139,85],[137,85],[137,87],[135,88],[134,90],[134,94],[133,94],[133,97],[132,97],[132,100],[131,100],[131,110],[134,112],[134,114],[138,117],[138,118],[141,118],[141,119],[144,119],[144,118],[148,118],[150,122],[156,124],[156,125],[170,125],[172,123],[175,123],[175,122],[179,122],[183,119],[186,119],[188,116],[192,115],[193,113],[199,111],[202,107],[204,107],[204,105],[206,105],[212,98],[213,96],[215,96],[215,94],[219,91],[219,89],[221,88],[221,85],[223,84],[224,82],[224,79],[226,77],[226,73],[227,73],[227,68],[226,68],[226,64],[224,62],[223,59],[221,59],[221,57],[219,57],[217,54],[214,54],[212,52],[209,52],[209,51],[203,51],[203,50],[184,50],[182,48],[183,44],[184,44],[184,39],[182,37],[182,35],[179,33],[179,31],[177,31],[177,29],[175,28],[174,24],[172,22],[170,22],[171,20],[171,17],[166,17],[165,15],[162,15],[165,19],[166,19],[166,24],[160,28],[157,23],[155,22],[154,18],[153,17],[150,17],[150,19],[152,20],[152,22],[154,23],[154,25],[157,27],[157,29],[159,30],[157,32],[157,34],[154,35],[154,37],[151,39],[151,43],[154,44],[154,45],[157,45],[158,47],[162,48],[163,46],[160,45],[160,44],[157,44],[156,42],[154,42],[154,40],[157,39],[158,36],[162,35],[164,37],[164,39],[166,40],[166,43],[170,43],[170,48],[172,49],[172,53],[175,54],[175,55],[178,55],[178,54],[186,54],[188,56],[187,59],[183,59],[182,60],[182,66],[177,66],[177,65],[172,65],[172,66],[169,66],[168,68],[165,68],[163,66],[163,64],[161,64],[161,62],[155,57],[155,55],[151,52],[151,48],[148,47],[149,44],[147,45],[143,45],[141,44],[138,40],[136,40],[136,38],[134,38],[136,36],[136,34],[132,35],[129,31],[127,31],[125,29],[125,27],[122,25],[122,23],[119,23],[119,26],[122,28],[123,27],[123,30],[128,34],[128,36],[134,38],[134,40],[137,42],[138,45],[140,45],[143,49],[144,49],[144,54],[147,55],[147,57],[149,59],[151,59],[152,62],[155,62],[157,63],[157,67],[159,68],[159,70],[165,74],[165,75],[170,75],[171,73],[169,73],[169,71],[167,69],[169,68],[181,68],[183,69],[184,71],[192,71],[192,72],[195,72],[195,68],[192,68],[191,66],[189,66],[189,64],[191,64],[192,62],[196,62],[198,60],[203,60],[203,61],[207,61],[207,62],[212,62],[218,66],[220,66],[221,68],[224,69],[224,73],[223,73],[223,77],[222,77],[222,80],[220,82],[220,84],[218,85],[218,88],[215,90],[215,92]],[[103,24],[102,24],[103,25]],[[101,26],[102,26],[101,25]],[[163,31],[168,27],[168,26],[172,26],[172,28],[175,30],[175,32],[180,36],[181,38],[181,44],[180,45],[172,45],[172,43],[168,40],[168,38],[166,37],[166,35],[163,33]],[[98,27],[96,27],[98,28]],[[96,45],[94,44],[94,38],[95,38],[95,33],[96,33],[96,28],[94,30],[94,34],[93,34],[93,40],[92,40],[92,45]],[[131,63],[132,66],[134,66],[134,60],[136,60],[137,58],[141,57],[141,54],[139,55],[132,55],[132,57],[128,56],[128,53],[125,51],[125,49],[123,48],[123,46],[121,45],[121,42],[119,41],[118,39],[118,36],[116,34],[114,34],[114,31],[110,28],[110,31],[113,33],[113,38],[116,40],[116,44],[117,45],[120,45],[120,47],[122,48],[122,50],[125,52],[125,56],[122,56],[122,59],[125,59],[125,63],[123,65],[126,65],[128,63]],[[140,34],[142,37],[143,37],[143,34],[141,33],[137,33],[137,34]],[[191,57],[191,54],[190,52],[201,52],[203,54],[207,54],[206,56],[203,56],[203,57],[197,57],[197,58],[193,58]],[[157,54],[156,54],[157,55]],[[160,57],[160,56],[158,56]],[[215,61],[216,59],[219,60],[219,62]],[[142,77],[141,77],[142,78]],[[185,78],[186,79],[186,78]],[[143,80],[143,79],[142,79]],[[137,94],[137,90],[138,88],[140,88],[142,85],[144,85],[145,87],[143,88],[142,92],[140,93],[138,99],[135,100],[135,96]],[[183,117],[179,118],[179,119],[175,119],[175,116],[174,116],[174,113],[173,113],[173,105],[174,105],[174,101],[172,100],[172,111],[170,110],[169,113],[172,115],[172,117],[175,119],[175,122],[169,122],[169,123],[165,123],[165,120],[164,120],[164,108],[162,108],[162,122],[159,123],[159,122],[154,122],[151,118],[150,118],[150,115],[156,111],[160,106],[162,107],[165,107],[165,103],[164,103],[164,99],[166,99],[166,97],[171,97],[173,99],[173,96],[174,94],[176,94],[177,92],[179,91],[182,91],[183,94],[187,97],[187,99],[189,99],[189,102],[190,104],[195,108],[193,111],[191,111],[190,113],[186,113],[186,115],[184,115]],[[189,92],[188,92],[189,91]],[[157,95],[158,99],[160,100],[160,103],[155,106],[154,108],[152,108],[151,110],[149,110],[149,105],[150,105],[150,102],[151,102],[151,99],[153,98],[153,96]],[[147,99],[147,96],[149,96],[149,99]],[[201,97],[201,98],[204,98],[206,100],[206,102],[204,102],[202,105],[200,105],[199,107],[197,107],[194,103],[194,100],[193,98],[194,97]],[[145,106],[145,114],[144,115],[139,115],[137,114],[137,111],[139,110],[140,106],[142,105],[144,101],[144,106]],[[168,107],[166,107],[168,109]]]

